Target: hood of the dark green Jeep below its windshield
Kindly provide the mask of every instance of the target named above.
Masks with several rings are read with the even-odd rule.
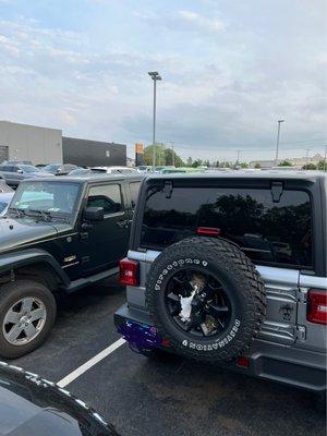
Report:
[[[57,234],[51,222],[35,218],[0,218],[0,254],[26,244],[36,244]]]

